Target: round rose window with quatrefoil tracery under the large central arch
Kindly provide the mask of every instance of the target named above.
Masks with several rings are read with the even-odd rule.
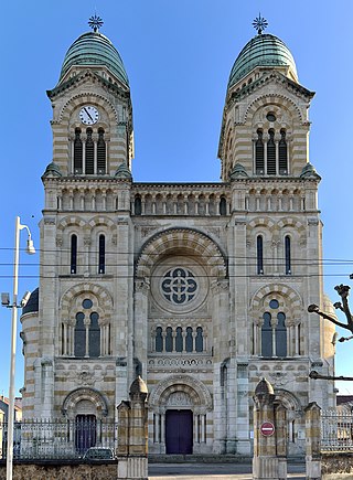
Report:
[[[164,298],[175,305],[191,301],[197,291],[197,284],[190,270],[176,267],[164,275],[161,289]]]

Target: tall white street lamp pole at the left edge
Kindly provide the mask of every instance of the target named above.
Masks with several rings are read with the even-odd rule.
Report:
[[[11,359],[10,359],[10,386],[9,386],[9,412],[8,412],[8,454],[7,454],[7,480],[12,480],[13,460],[13,425],[14,425],[14,369],[15,369],[15,343],[18,328],[18,308],[23,308],[30,298],[30,292],[25,292],[20,305],[18,305],[19,290],[19,258],[20,258],[20,232],[25,228],[28,233],[25,252],[29,255],[35,254],[30,228],[21,225],[20,217],[15,217],[14,227],[14,254],[13,254],[13,294],[10,305],[9,294],[1,294],[3,307],[12,308],[12,331],[11,331]]]

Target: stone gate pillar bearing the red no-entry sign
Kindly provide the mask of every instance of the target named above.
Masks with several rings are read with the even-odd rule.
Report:
[[[254,396],[254,480],[287,479],[286,414],[275,399],[271,384],[263,378]]]

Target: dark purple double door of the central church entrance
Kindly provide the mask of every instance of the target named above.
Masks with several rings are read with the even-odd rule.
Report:
[[[165,412],[165,454],[191,455],[193,451],[193,413],[191,409]]]

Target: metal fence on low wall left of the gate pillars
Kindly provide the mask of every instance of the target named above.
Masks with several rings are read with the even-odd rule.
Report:
[[[88,418],[87,418],[88,417]],[[7,456],[8,424],[0,423],[0,458]],[[14,459],[84,458],[88,449],[116,451],[118,424],[94,416],[75,420],[22,420],[14,423]]]

